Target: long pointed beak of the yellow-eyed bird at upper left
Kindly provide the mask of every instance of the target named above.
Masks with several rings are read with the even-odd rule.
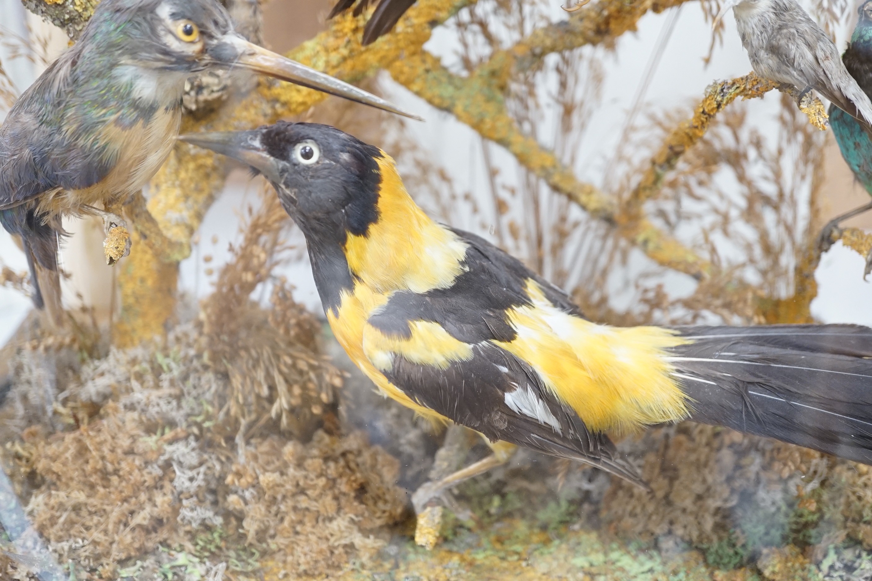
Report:
[[[215,50],[210,51],[215,61],[232,66],[239,64],[245,68],[280,78],[289,83],[300,84],[316,91],[324,91],[330,95],[347,98],[351,101],[370,105],[377,109],[397,113],[404,117],[423,121],[417,115],[403,111],[392,105],[383,98],[358,89],[358,87],[330,77],[323,72],[310,69],[304,64],[299,64],[290,58],[283,57],[273,51],[267,51],[262,46],[249,43],[235,32],[228,32],[215,45]]]

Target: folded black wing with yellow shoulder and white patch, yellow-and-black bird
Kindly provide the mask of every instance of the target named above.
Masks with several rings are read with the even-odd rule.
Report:
[[[509,311],[531,306],[525,287],[539,277],[485,240],[458,234],[468,245],[467,271],[453,287],[393,294],[364,326],[364,355],[413,402],[492,441],[590,463],[640,483],[608,436],[588,429],[534,364],[506,348],[518,336]],[[542,283],[555,309],[577,313],[562,291]]]

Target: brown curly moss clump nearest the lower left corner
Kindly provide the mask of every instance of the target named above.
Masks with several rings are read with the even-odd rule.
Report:
[[[28,510],[64,557],[88,567],[115,564],[184,541],[176,519],[173,471],[158,463],[163,442],[140,415],[110,404],[100,422],[32,446],[31,469],[44,479]]]

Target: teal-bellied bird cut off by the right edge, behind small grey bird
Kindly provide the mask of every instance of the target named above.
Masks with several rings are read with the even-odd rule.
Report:
[[[851,35],[848,48],[841,57],[845,68],[855,78],[860,88],[872,98],[872,0],[863,3],[859,9],[860,20]],[[854,172],[866,192],[872,196],[872,138],[865,132],[855,118],[835,105],[829,107],[829,125],[833,129],[841,157]],[[838,232],[839,224],[857,214],[872,210],[872,202],[843,213],[830,220],[821,233],[821,252],[826,252],[833,244],[832,236]],[[865,278],[872,272],[872,253],[866,259]]]

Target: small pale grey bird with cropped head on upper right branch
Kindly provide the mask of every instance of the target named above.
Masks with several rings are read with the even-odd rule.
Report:
[[[872,102],[841,64],[833,41],[795,0],[726,0],[754,72],[792,84],[800,99],[814,89],[872,132]]]

